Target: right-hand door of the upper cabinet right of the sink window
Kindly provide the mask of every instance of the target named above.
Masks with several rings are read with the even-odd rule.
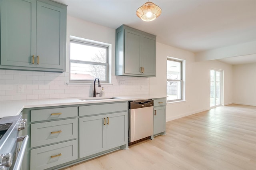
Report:
[[[142,67],[144,75],[156,75],[156,39],[143,36],[142,38]]]

